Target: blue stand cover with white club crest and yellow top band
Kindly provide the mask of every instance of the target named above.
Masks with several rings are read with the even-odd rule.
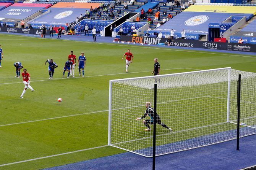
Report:
[[[186,38],[198,40],[203,36],[207,38],[210,23],[222,23],[233,15],[245,16],[248,21],[254,14],[256,9],[253,6],[192,5],[150,33],[162,32],[169,36],[170,30],[173,29],[175,37],[181,37],[181,31],[184,29]]]

